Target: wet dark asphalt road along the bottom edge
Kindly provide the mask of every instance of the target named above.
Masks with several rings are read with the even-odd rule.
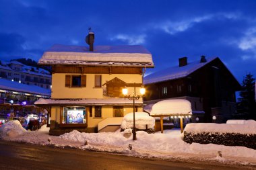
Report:
[[[72,148],[0,140],[0,169],[241,169],[198,163],[139,159]]]

